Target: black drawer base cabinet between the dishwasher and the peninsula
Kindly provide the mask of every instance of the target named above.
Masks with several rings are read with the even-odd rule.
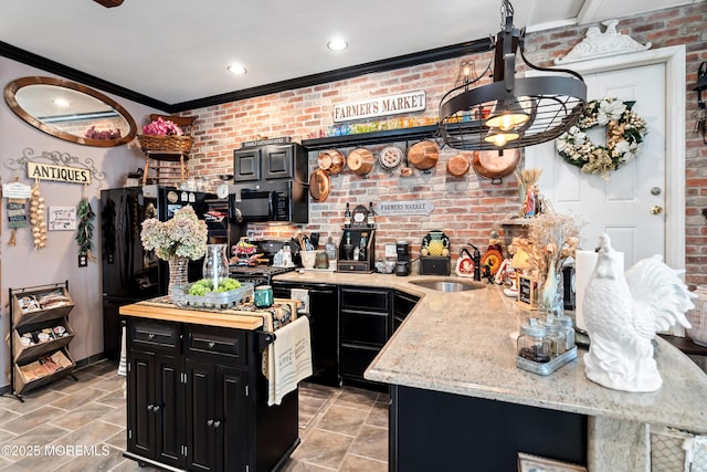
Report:
[[[339,300],[339,373],[344,381],[368,384],[363,371],[390,336],[392,291],[341,286]]]

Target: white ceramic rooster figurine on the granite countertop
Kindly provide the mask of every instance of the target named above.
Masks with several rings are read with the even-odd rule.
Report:
[[[587,284],[583,313],[590,337],[587,377],[624,391],[655,391],[663,379],[651,340],[675,323],[689,328],[685,312],[695,297],[661,255],[639,261],[624,275],[608,234],[599,238],[597,266]]]

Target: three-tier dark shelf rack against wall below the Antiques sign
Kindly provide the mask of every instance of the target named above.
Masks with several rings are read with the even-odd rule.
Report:
[[[68,354],[68,344],[75,335],[68,325],[68,313],[74,308],[74,302],[68,294],[68,281],[10,289],[9,292],[10,382],[13,395],[23,401],[21,395],[66,375],[73,376],[76,364]],[[44,297],[52,294],[64,301],[43,306]],[[49,338],[40,339],[41,333]],[[31,335],[32,344],[22,342],[27,335]]]

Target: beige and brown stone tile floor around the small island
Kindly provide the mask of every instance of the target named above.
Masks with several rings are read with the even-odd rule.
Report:
[[[0,471],[154,471],[122,455],[125,377],[117,375],[117,364],[104,360],[76,370],[76,377],[31,391],[24,402],[0,397]],[[387,471],[388,396],[305,387],[302,443],[283,470]]]

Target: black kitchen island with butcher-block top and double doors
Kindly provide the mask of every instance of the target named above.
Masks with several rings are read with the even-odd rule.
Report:
[[[274,313],[253,306],[203,311],[146,301],[127,319],[127,451],[167,470],[277,470],[299,443],[297,390],[267,406],[263,352]],[[276,315],[275,315],[276,313]],[[277,332],[275,331],[275,336]]]

